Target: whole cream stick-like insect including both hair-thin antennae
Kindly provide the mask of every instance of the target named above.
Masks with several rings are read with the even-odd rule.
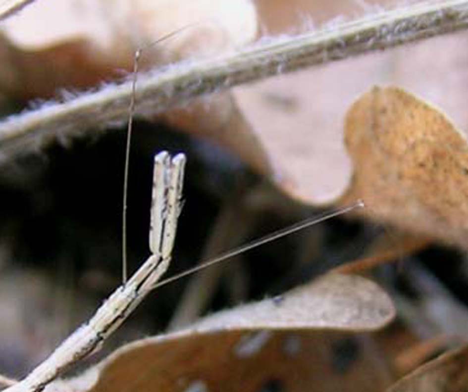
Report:
[[[173,34],[173,33],[171,33]],[[160,40],[158,40],[159,42]],[[132,130],[133,110],[135,105],[135,89],[137,77],[137,63],[141,53],[139,49],[135,54],[133,95],[130,103],[130,115],[128,125],[128,141]],[[127,143],[127,160],[125,165],[124,200],[126,199],[128,176],[128,151],[130,142]],[[79,327],[63,343],[61,343],[42,364],[35,368],[25,379],[10,387],[7,391],[41,391],[71,364],[98,350],[105,339],[118,328],[120,324],[131,314],[135,307],[152,290],[174,280],[192,274],[203,268],[223,261],[236,254],[245,252],[256,246],[273,241],[287,234],[301,230],[317,222],[330,217],[346,213],[352,209],[362,207],[362,201],[350,206],[326,212],[320,216],[314,216],[293,226],[281,229],[265,237],[246,245],[230,250],[207,262],[189,269],[181,274],[160,281],[161,276],[167,270],[171,260],[172,247],[175,240],[177,220],[181,212],[182,188],[185,166],[185,155],[177,154],[173,157],[166,151],[159,152],[155,156],[154,184],[151,207],[151,226],[149,248],[151,255],[141,267],[128,279],[125,260],[126,245],[125,235],[123,243],[123,267],[122,285],[119,286],[102,306],[100,306],[88,322]],[[125,212],[124,201],[124,212]],[[125,213],[123,214],[123,231],[125,234]]]

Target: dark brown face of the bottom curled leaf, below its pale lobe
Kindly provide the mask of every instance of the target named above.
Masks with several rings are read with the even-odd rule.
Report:
[[[123,347],[104,362],[99,376],[91,374],[97,383],[80,391],[370,392],[392,380],[385,364],[375,360],[379,354],[371,338],[361,335],[179,334]]]

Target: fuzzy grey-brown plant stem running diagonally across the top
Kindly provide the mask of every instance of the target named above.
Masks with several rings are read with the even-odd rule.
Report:
[[[149,116],[195,97],[361,53],[468,27],[468,1],[419,3],[297,36],[263,39],[218,57],[184,61],[139,75],[135,114]],[[0,122],[0,162],[58,138],[124,122],[132,81],[110,84]]]

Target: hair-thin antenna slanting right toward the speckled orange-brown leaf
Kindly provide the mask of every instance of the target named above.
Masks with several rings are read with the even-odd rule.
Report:
[[[273,233],[270,233],[270,234],[267,234],[266,236],[263,236],[263,237],[260,237],[259,239],[256,239],[256,240],[253,240],[247,244],[244,244],[244,245],[241,245],[241,246],[238,246],[232,250],[229,250],[225,253],[222,253],[220,254],[219,256],[216,256],[212,259],[209,259],[208,261],[205,261],[205,262],[202,262],[200,263],[199,265],[193,267],[193,268],[190,268],[188,270],[185,270],[184,272],[181,272],[180,274],[176,274],[176,275],[173,275],[171,276],[170,278],[167,278],[167,279],[164,279],[158,283],[156,283],[155,286],[152,287],[152,289],[156,289],[156,288],[159,288],[161,286],[165,286],[167,285],[168,283],[170,282],[173,282],[173,281],[176,281],[180,278],[183,278],[187,275],[191,275],[195,272],[198,272],[198,271],[201,271],[205,268],[208,268],[214,264],[217,264],[217,263],[220,263],[221,261],[224,261],[230,257],[233,257],[237,254],[240,254],[240,253],[243,253],[247,250],[250,250],[250,249],[253,249],[257,246],[260,246],[260,245],[263,245],[263,244],[266,244],[266,243],[269,243],[271,241],[274,241],[274,240],[277,240],[281,237],[284,237],[284,236],[287,236],[288,234],[291,234],[291,233],[295,233],[299,230],[302,230],[302,229],[305,229],[306,227],[309,227],[309,226],[312,226],[316,223],[320,223],[320,222],[323,222],[327,219],[330,219],[330,218],[333,218],[335,216],[338,216],[338,215],[342,215],[342,214],[345,214],[347,212],[350,212],[352,210],[354,210],[355,208],[362,208],[364,207],[364,201],[363,200],[358,200],[356,203],[352,204],[352,205],[349,205],[349,206],[346,206],[346,207],[342,207],[342,208],[338,208],[338,209],[334,209],[334,210],[331,210],[331,211],[325,211],[319,215],[316,215],[316,216],[312,216],[311,218],[308,218],[308,219],[305,219],[301,222],[298,222],[298,223],[295,223],[291,226],[288,226],[284,229],[280,229],[280,230],[277,230]]]

